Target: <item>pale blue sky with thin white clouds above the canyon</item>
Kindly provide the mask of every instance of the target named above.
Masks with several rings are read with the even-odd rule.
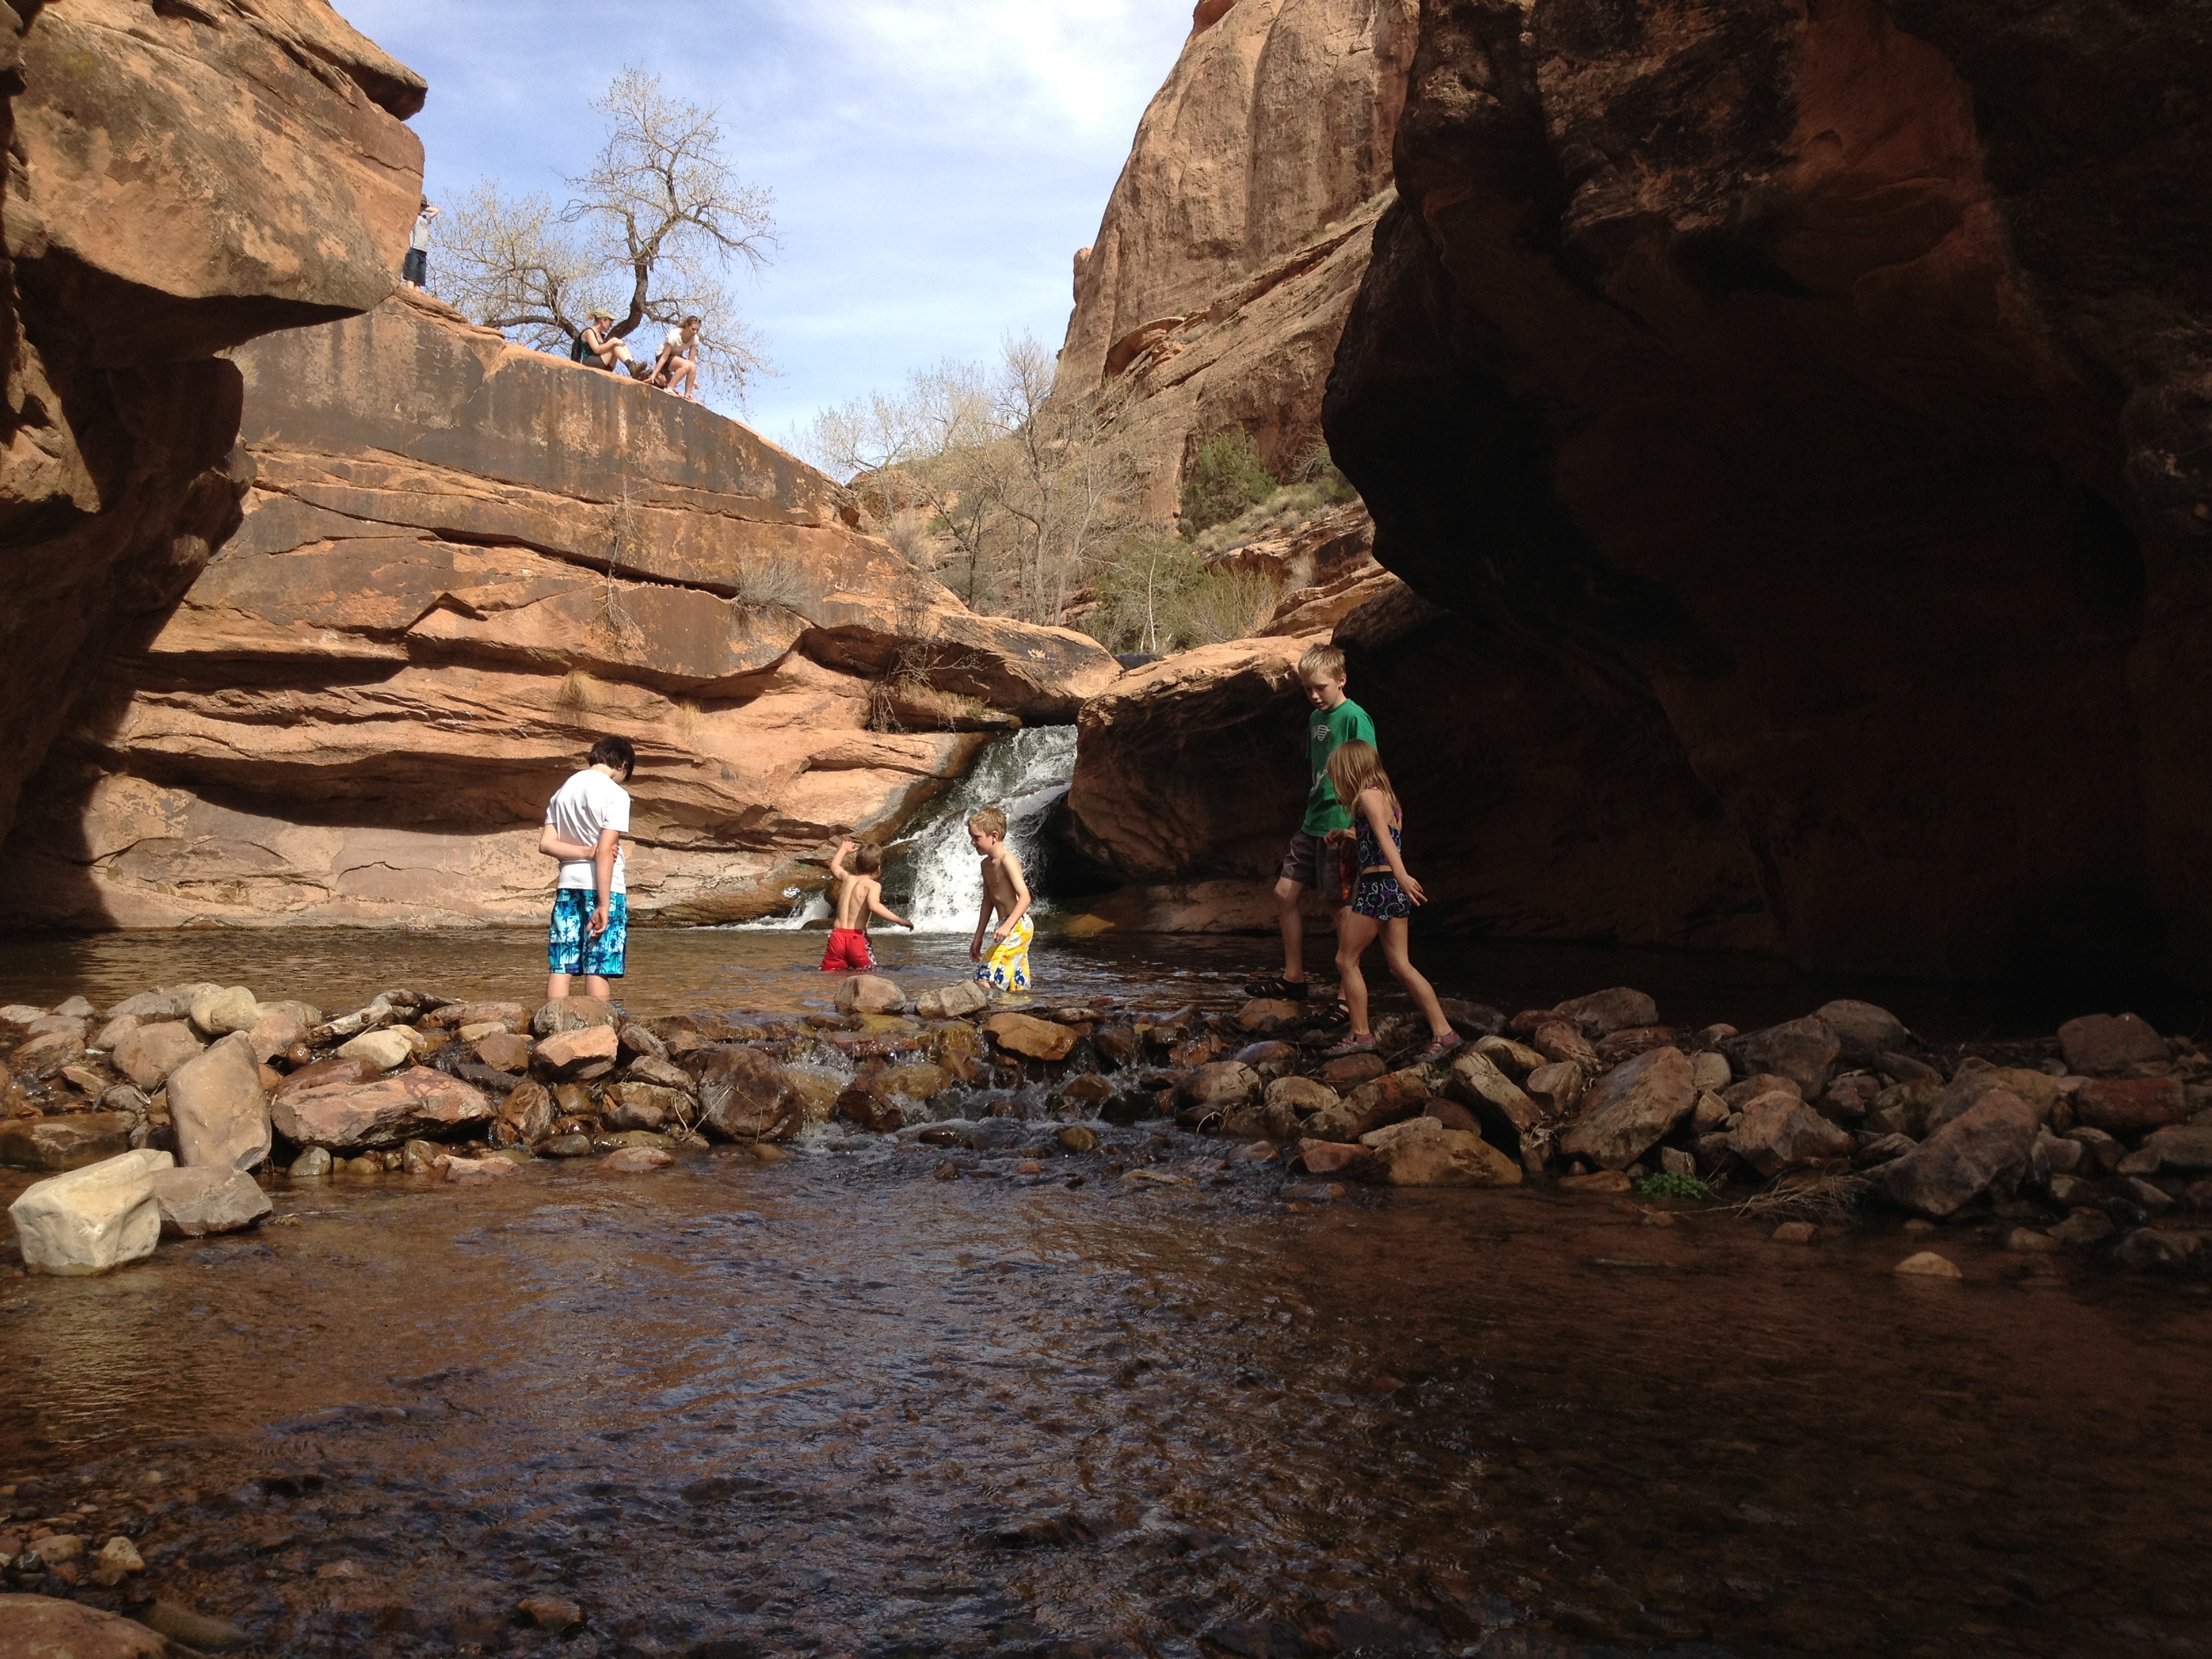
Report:
[[[1073,254],[1190,31],[1188,0],[338,9],[429,80],[414,128],[434,197],[478,177],[557,195],[602,131],[586,102],[624,62],[721,104],[783,234],[776,263],[734,283],[781,369],[743,411],[772,438],[1009,332],[1057,349]]]

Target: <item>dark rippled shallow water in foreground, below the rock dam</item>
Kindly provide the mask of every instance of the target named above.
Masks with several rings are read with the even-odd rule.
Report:
[[[878,1144],[279,1192],[299,1225],[0,1281],[0,1480],[142,1526],[265,1655],[2212,1641],[2172,1285],[1526,1192],[1292,1208],[1219,1144],[1026,1133],[1044,1177]],[[586,1628],[515,1624],[540,1593]]]

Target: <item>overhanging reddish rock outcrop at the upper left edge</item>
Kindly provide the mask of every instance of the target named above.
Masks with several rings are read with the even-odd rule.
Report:
[[[237,524],[217,352],[392,292],[422,91],[321,0],[0,4],[0,832]]]

